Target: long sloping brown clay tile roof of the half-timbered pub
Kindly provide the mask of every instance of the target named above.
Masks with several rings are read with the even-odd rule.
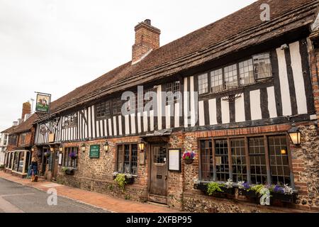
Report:
[[[261,4],[271,9],[271,20],[260,20]],[[231,52],[257,45],[313,23],[318,0],[260,0],[225,18],[153,50],[144,60],[127,62],[52,102],[52,114],[99,99],[128,87],[172,76]]]

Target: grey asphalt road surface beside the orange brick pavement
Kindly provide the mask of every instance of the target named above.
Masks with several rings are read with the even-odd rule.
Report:
[[[57,205],[50,206],[48,200],[49,204],[57,201]],[[0,213],[107,213],[107,211],[58,195],[55,200],[52,194],[0,178]]]

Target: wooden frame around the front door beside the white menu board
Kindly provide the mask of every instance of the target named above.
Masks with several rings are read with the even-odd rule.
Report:
[[[147,199],[150,201],[150,195],[152,195],[150,193],[150,190],[151,190],[151,177],[152,177],[152,162],[153,162],[153,156],[152,156],[152,148],[154,146],[157,146],[157,145],[162,145],[164,147],[166,147],[167,149],[167,153],[166,153],[166,171],[167,171],[167,184],[166,184],[166,197],[168,198],[168,187],[169,187],[169,157],[168,157],[168,149],[169,149],[169,145],[168,143],[165,143],[164,141],[163,142],[156,142],[156,143],[148,143],[147,145],[147,156],[148,156],[148,171],[147,171],[147,174],[149,177],[147,177]]]

